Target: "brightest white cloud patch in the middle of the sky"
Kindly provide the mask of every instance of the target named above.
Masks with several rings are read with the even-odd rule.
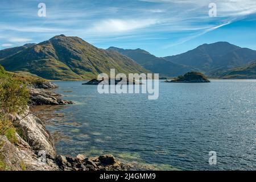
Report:
[[[93,27],[88,29],[88,32],[96,34],[121,33],[145,28],[156,23],[158,23],[156,19],[106,19],[94,23]]]

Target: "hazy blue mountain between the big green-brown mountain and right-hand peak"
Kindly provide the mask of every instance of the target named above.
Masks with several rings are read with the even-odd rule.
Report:
[[[197,71],[196,68],[191,66],[172,63],[164,58],[151,55],[143,49],[121,49],[117,47],[110,47],[108,50],[117,51],[127,57],[130,57],[151,72],[159,73],[161,77],[175,77],[184,75],[184,73],[189,71]]]

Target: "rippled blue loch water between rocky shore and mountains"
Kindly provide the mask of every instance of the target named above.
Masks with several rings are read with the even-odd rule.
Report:
[[[98,94],[81,81],[56,84],[65,100],[76,102],[49,117],[59,154],[110,153],[167,170],[256,169],[256,80],[160,82],[158,100]],[[212,150],[216,166],[208,163]]]

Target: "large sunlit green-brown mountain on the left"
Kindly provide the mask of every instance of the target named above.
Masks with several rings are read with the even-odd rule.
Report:
[[[13,50],[16,53],[9,51],[0,60],[7,71],[26,71],[51,80],[96,78],[112,68],[116,73],[148,72],[129,57],[96,48],[78,37],[59,35],[32,47]]]

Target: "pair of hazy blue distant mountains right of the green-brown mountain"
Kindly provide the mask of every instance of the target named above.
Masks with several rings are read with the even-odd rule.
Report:
[[[170,77],[191,71],[200,71],[210,77],[222,77],[229,69],[245,66],[256,60],[256,51],[228,42],[203,44],[191,51],[167,57],[156,57],[143,49],[109,49],[130,57],[152,72]]]

